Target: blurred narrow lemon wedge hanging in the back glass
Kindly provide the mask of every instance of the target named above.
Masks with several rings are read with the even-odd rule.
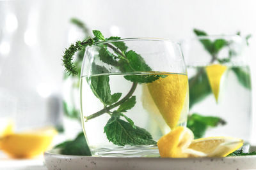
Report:
[[[212,64],[211,66],[205,67],[205,70],[216,102],[218,102],[220,81],[221,77],[227,70],[227,66],[223,66],[221,64]]]

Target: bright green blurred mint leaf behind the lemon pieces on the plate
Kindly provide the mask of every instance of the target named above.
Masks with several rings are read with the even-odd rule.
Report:
[[[225,125],[226,122],[219,117],[204,117],[193,113],[188,117],[187,127],[194,133],[195,139],[202,138],[208,127],[216,127],[217,125]]]

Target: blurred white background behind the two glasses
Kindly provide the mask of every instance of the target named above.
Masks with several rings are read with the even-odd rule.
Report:
[[[252,34],[247,53],[255,103],[255,7],[253,0],[0,1],[0,115],[15,119],[15,131],[54,125],[66,129],[68,138],[81,131],[76,121],[63,117],[67,87],[61,56],[70,43],[84,38],[70,18],[107,37],[180,40],[194,37],[194,28],[209,34]],[[256,122],[256,105],[252,106]],[[256,126],[252,129],[255,132]]]

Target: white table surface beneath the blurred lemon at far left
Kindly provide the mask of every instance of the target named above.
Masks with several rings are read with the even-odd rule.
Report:
[[[47,170],[44,164],[44,157],[35,159],[10,159],[0,151],[0,169],[4,170]]]

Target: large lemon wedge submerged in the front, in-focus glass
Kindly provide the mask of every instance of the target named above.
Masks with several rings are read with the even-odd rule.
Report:
[[[188,76],[166,74],[166,77],[148,83],[148,91],[166,124],[173,129],[177,126],[180,113],[188,93]]]

